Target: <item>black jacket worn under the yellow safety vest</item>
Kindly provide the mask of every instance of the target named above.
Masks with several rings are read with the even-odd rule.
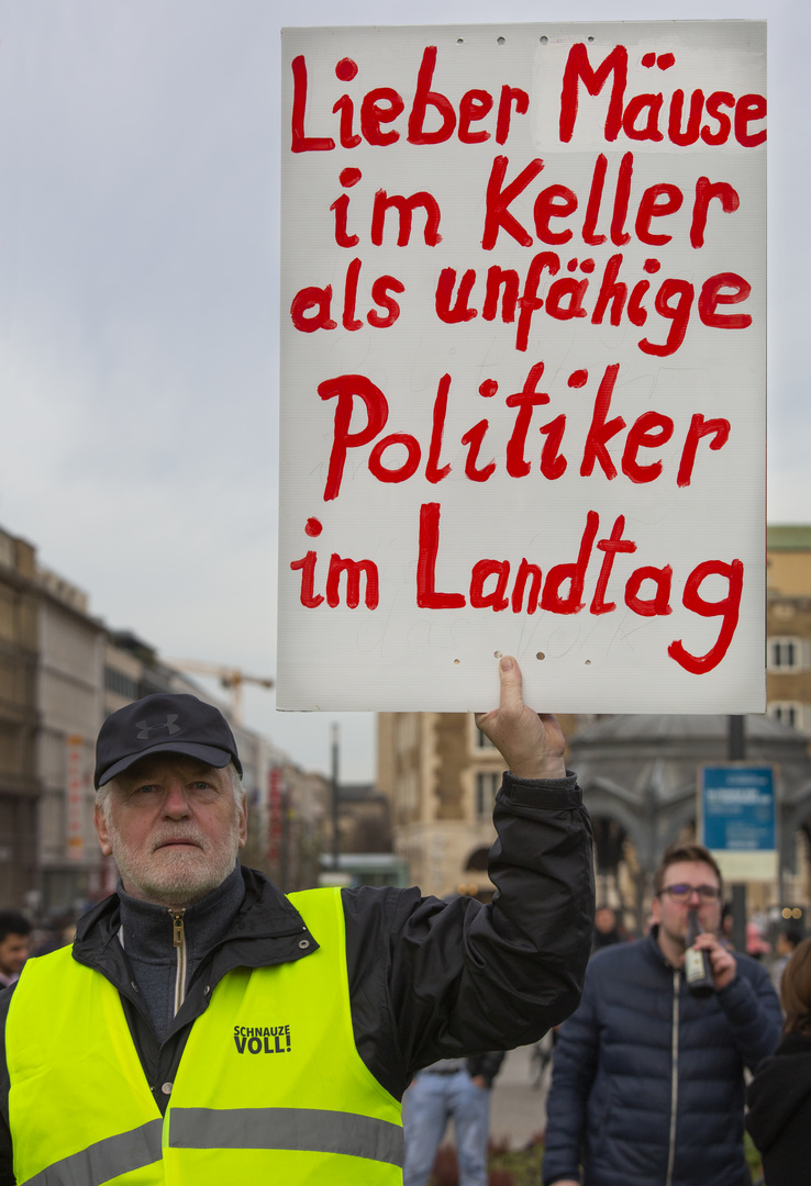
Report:
[[[576,779],[506,774],[496,798],[489,874],[499,893],[482,906],[443,903],[419,890],[342,891],[353,1027],[369,1071],[401,1098],[416,1070],[536,1041],[577,1007],[591,943],[591,828]],[[306,958],[317,949],[292,904],[245,869],[246,894],[228,935],[195,969],[159,1045],[118,940],[112,895],[78,924],[74,958],[121,994],[144,1073],[161,1110],[189,1031],[234,968]],[[308,945],[299,944],[308,939]],[[171,942],[171,929],[167,943]],[[55,986],[58,991],[58,986]],[[13,988],[0,993],[0,1032]],[[0,1186],[12,1186],[8,1072],[0,1063]],[[81,1084],[77,1084],[81,1090]]]

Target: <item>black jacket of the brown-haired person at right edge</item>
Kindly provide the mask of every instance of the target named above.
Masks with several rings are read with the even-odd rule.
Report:
[[[811,1037],[786,1034],[764,1059],[746,1095],[746,1127],[764,1158],[766,1186],[807,1186],[811,1178]]]

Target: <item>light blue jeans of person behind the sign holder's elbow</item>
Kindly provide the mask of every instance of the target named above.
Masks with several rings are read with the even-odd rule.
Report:
[[[406,1091],[403,1186],[426,1186],[451,1116],[456,1129],[460,1186],[487,1186],[490,1092],[487,1088],[477,1088],[464,1070],[456,1075],[420,1071]]]

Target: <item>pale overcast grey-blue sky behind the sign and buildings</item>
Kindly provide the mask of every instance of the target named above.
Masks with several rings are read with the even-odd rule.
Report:
[[[163,657],[275,668],[279,30],[769,19],[769,521],[811,522],[793,0],[0,0],[0,524]],[[340,13],[340,17],[336,14]],[[335,714],[248,723],[328,770]],[[369,714],[342,774],[374,777]]]

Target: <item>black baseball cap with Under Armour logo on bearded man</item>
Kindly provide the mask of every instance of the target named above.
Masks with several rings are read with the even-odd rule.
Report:
[[[96,741],[95,786],[99,789],[153,753],[182,753],[207,766],[242,764],[228,721],[218,708],[185,693],[144,696],[112,713]]]

